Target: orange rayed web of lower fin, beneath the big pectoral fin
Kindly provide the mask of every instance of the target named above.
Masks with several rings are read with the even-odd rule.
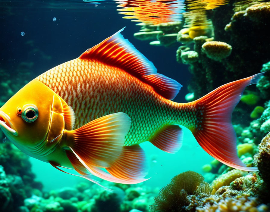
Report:
[[[106,170],[119,179],[143,179],[148,172],[145,153],[140,145],[124,146],[121,156]]]

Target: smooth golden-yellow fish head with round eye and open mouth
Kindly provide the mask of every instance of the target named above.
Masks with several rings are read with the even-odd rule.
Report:
[[[34,157],[41,143],[64,130],[59,98],[48,86],[32,80],[0,108],[0,128],[12,143]]]

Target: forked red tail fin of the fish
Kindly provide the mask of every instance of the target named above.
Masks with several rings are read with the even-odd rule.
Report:
[[[262,74],[220,86],[194,102],[198,114],[202,114],[202,122],[193,131],[197,142],[218,161],[236,169],[258,170],[257,167],[246,167],[237,156],[236,133],[231,123],[231,115],[245,87],[257,83]]]

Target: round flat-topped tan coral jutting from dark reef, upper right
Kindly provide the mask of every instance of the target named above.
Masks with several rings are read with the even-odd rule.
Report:
[[[231,45],[220,41],[207,41],[202,45],[202,51],[206,53],[206,56],[216,61],[228,57],[231,50]]]

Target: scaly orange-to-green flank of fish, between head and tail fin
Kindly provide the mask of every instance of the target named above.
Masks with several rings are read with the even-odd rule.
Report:
[[[128,146],[150,141],[167,125],[181,124],[191,129],[197,124],[195,105],[165,99],[136,77],[100,61],[77,58],[37,79],[74,109],[75,128],[108,114],[128,114]]]

